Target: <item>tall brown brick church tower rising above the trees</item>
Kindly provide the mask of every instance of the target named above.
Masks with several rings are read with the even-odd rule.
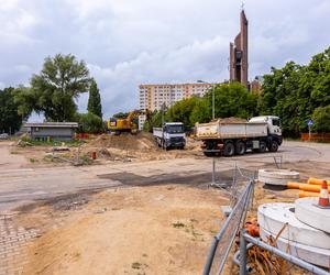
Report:
[[[230,81],[248,82],[248,20],[244,10],[241,11],[241,31],[234,43],[230,43]]]

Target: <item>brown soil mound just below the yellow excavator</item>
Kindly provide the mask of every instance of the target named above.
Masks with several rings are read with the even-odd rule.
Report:
[[[120,150],[154,150],[156,144],[151,133],[102,134],[89,143],[89,146]]]

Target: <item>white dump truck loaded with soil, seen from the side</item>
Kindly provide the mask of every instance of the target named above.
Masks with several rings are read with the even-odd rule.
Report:
[[[282,128],[278,117],[255,117],[248,122],[226,122],[218,119],[209,123],[196,123],[196,138],[202,141],[207,156],[243,155],[252,152],[276,152],[282,144]]]

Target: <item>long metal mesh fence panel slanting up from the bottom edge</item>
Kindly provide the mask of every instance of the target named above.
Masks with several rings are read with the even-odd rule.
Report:
[[[242,227],[248,209],[251,206],[253,190],[254,180],[250,180],[219,233],[215,237],[204,268],[205,275],[220,274],[222,272],[237,232]]]

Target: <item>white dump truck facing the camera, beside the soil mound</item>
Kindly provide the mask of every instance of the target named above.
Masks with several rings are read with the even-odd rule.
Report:
[[[154,128],[153,134],[156,143],[162,148],[184,148],[186,145],[186,134],[182,122],[164,123],[163,128]]]

